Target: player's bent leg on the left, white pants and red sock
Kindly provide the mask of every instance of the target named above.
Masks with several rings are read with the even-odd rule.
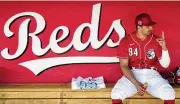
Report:
[[[111,91],[112,104],[122,104],[122,101],[137,93],[136,87],[125,76],[117,81]]]

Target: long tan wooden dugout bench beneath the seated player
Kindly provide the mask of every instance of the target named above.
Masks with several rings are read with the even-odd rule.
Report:
[[[0,104],[111,104],[113,86],[109,83],[105,89],[71,90],[71,84],[66,83],[1,83]],[[180,86],[173,87],[175,104],[180,104]],[[124,104],[163,104],[163,101],[146,93],[128,98]]]

